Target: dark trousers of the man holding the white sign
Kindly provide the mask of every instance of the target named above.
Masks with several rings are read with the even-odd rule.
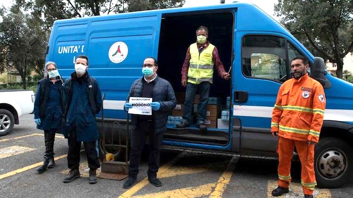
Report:
[[[163,140],[163,133],[155,134],[154,123],[141,121],[137,122],[136,129],[131,132],[131,152],[128,175],[132,178],[137,178],[138,166],[140,165],[141,152],[146,141],[146,136],[149,137],[149,157],[148,157],[148,172],[149,178],[157,177],[160,159],[160,147]]]

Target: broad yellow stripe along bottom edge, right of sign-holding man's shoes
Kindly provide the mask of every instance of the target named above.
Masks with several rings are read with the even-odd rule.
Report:
[[[198,187],[189,187],[184,189],[175,189],[153,194],[134,196],[132,198],[199,198],[211,194],[216,184],[206,184]]]

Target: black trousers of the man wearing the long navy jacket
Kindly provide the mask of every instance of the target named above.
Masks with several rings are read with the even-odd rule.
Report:
[[[78,169],[80,166],[80,150],[81,150],[81,141],[76,140],[76,129],[70,131],[68,138],[69,141],[69,152],[67,154],[67,164],[69,169]],[[99,150],[98,150],[98,141],[84,141],[83,145],[85,146],[88,167],[91,170],[96,170],[101,167],[99,163]]]

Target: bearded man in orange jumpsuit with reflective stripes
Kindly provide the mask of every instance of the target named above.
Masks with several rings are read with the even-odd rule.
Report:
[[[305,198],[313,198],[316,186],[314,147],[319,142],[326,105],[323,86],[309,77],[308,60],[295,57],[291,61],[293,78],[279,88],[271,120],[271,132],[278,137],[278,187],[272,196],[288,193],[290,166],[294,146],[302,165],[301,184]]]

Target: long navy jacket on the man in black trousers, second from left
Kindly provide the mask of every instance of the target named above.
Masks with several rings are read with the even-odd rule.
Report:
[[[80,83],[76,72],[65,81],[66,126],[75,127],[77,141],[95,141],[99,138],[96,114],[102,108],[102,92],[98,81],[86,72]]]

